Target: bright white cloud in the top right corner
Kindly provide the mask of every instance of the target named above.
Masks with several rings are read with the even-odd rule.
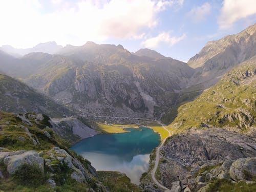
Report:
[[[255,0],[224,0],[218,24],[221,29],[228,29],[237,20],[253,14],[256,14]]]

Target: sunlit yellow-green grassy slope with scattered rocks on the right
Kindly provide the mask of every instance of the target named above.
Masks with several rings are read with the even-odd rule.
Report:
[[[191,126],[230,126],[246,130],[255,126],[256,57],[225,74],[213,87],[192,102],[180,106],[178,115],[169,125],[178,132]],[[252,73],[253,75],[250,75]]]

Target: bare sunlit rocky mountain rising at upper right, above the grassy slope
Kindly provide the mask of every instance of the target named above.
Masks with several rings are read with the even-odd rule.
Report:
[[[187,62],[196,69],[190,84],[203,83],[205,88],[215,84],[221,76],[239,63],[256,55],[256,24],[242,32],[209,41]]]

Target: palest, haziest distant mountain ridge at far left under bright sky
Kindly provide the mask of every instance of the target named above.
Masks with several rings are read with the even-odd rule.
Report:
[[[59,46],[56,44],[55,41],[49,41],[37,44],[35,47],[28,48],[28,49],[16,49],[9,45],[4,45],[0,47],[0,50],[14,56],[14,57],[21,57],[23,55],[26,55],[28,53],[32,52],[42,52],[42,53],[49,53],[54,54],[58,50],[60,50],[62,46]]]

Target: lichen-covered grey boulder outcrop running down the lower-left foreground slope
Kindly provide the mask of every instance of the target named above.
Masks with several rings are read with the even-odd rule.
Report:
[[[86,162],[86,164],[85,164]],[[35,165],[42,173],[47,173],[47,182],[50,187],[55,188],[57,186],[54,178],[59,178],[61,175],[63,182],[65,178],[72,178],[77,182],[85,183],[89,185],[92,182],[96,184],[97,191],[104,192],[108,191],[100,182],[98,182],[97,173],[91,163],[87,160],[83,160],[83,164],[71,156],[66,150],[59,147],[53,147],[52,150],[46,152],[40,152],[37,154],[35,151],[0,151],[0,163],[6,165],[7,172],[9,175],[14,175],[17,170],[20,170],[23,165]],[[2,172],[0,177],[4,178]]]

